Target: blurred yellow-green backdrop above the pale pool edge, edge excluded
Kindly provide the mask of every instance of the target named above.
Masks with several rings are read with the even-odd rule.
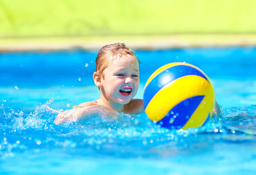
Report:
[[[0,40],[254,35],[255,7],[255,0],[0,0]]]

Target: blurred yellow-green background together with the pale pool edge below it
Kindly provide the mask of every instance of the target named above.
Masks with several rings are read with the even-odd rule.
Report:
[[[256,1],[1,0],[0,49],[255,44]]]

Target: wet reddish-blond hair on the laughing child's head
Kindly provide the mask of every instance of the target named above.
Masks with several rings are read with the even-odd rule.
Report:
[[[133,55],[133,51],[125,46],[125,43],[117,42],[115,44],[108,44],[98,50],[96,58],[96,71],[102,74],[103,71],[117,58],[121,58],[123,55]]]

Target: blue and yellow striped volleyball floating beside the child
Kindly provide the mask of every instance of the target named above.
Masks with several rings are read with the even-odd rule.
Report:
[[[147,117],[168,129],[200,127],[212,117],[214,88],[206,74],[189,63],[168,63],[147,80]]]

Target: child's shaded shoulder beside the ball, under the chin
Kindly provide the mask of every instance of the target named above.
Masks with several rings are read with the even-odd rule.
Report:
[[[143,106],[142,99],[132,99],[128,104],[125,104],[124,112],[127,112],[127,113],[144,112],[144,106]]]

